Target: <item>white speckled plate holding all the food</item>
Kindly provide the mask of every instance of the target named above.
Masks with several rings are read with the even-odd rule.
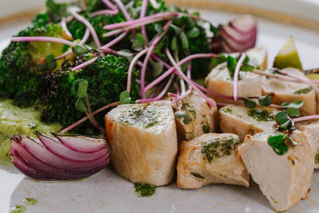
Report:
[[[204,18],[213,23],[226,23],[236,14],[201,10]],[[15,32],[23,29],[23,22],[0,26],[0,50],[5,48]],[[293,35],[305,69],[319,67],[319,34],[305,28],[288,26],[259,19],[257,45],[269,50],[271,64],[279,48]],[[34,198],[37,205],[26,206],[32,213],[87,212],[275,212],[269,201],[252,180],[249,188],[236,185],[213,184],[198,190],[181,190],[175,181],[159,187],[147,198],[138,197],[134,185],[105,169],[84,180],[38,182],[26,178],[15,168],[0,166],[0,212],[11,206],[24,205],[22,199]],[[314,171],[311,193],[287,212],[319,212],[319,170]]]

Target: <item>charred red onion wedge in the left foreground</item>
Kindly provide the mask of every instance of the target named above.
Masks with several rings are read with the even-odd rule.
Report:
[[[99,172],[109,163],[110,147],[102,138],[67,136],[70,145],[76,143],[78,138],[81,138],[82,143],[85,140],[86,143],[104,145],[98,151],[83,153],[69,149],[57,138],[36,133],[39,139],[26,135],[11,137],[11,161],[18,170],[30,178],[39,180],[84,178]]]

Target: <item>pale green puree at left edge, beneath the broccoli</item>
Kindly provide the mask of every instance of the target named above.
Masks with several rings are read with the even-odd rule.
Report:
[[[35,137],[35,130],[43,134],[59,132],[59,124],[47,125],[40,122],[41,112],[34,108],[19,108],[11,100],[0,100],[0,163],[10,163],[10,137],[12,135],[30,135]]]

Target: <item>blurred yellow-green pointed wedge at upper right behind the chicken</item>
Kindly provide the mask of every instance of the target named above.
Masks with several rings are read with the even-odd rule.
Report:
[[[302,70],[302,65],[293,37],[289,36],[285,45],[279,51],[274,61],[274,67],[279,69],[283,69],[285,67],[294,67]]]

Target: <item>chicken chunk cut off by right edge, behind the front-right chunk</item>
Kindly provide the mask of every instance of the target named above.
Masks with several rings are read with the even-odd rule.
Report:
[[[297,122],[296,128],[308,134],[314,156],[314,169],[319,169],[319,120]]]

